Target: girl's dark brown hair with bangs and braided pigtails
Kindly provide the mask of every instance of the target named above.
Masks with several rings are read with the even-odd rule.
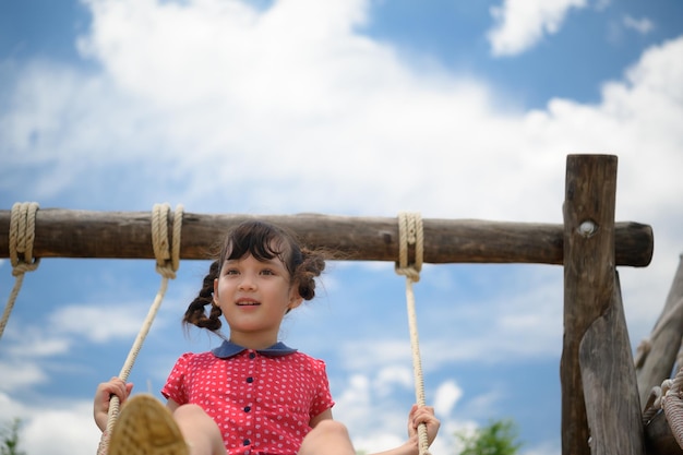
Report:
[[[299,295],[304,300],[315,297],[315,277],[325,270],[324,254],[302,247],[293,232],[280,226],[261,220],[243,221],[226,236],[218,258],[204,277],[202,289],[185,311],[182,319],[184,324],[214,332],[220,328],[223,311],[212,304],[214,279],[220,276],[220,268],[226,261],[239,260],[249,254],[259,261],[278,258],[289,272],[290,284],[298,287]],[[205,311],[207,304],[211,304],[208,315]]]

